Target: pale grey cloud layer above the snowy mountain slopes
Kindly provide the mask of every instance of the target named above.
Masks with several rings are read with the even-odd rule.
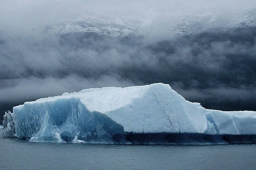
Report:
[[[31,29],[41,30],[45,25],[70,22],[70,20],[98,15],[101,17],[110,16],[114,18],[144,18],[150,19],[159,16],[158,20],[165,20],[167,17],[176,17],[180,14],[191,14],[194,11],[242,11],[254,6],[254,0],[233,0],[233,1],[0,1],[1,30],[12,31],[13,33],[31,33]],[[194,15],[194,14],[193,14]],[[195,14],[197,15],[197,13]],[[156,30],[157,31],[157,30]]]

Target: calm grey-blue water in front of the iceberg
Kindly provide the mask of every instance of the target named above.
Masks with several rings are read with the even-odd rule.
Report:
[[[0,138],[0,169],[255,169],[256,144],[111,145]]]

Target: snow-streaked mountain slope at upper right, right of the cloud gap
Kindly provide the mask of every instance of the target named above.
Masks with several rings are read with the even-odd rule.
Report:
[[[180,35],[190,35],[212,29],[230,29],[256,26],[256,8],[239,12],[200,12],[175,20],[175,30]]]

